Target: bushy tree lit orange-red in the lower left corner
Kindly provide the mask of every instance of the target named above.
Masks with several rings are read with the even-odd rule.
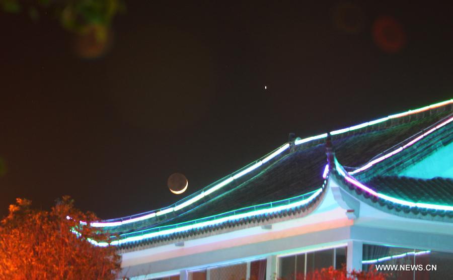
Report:
[[[93,213],[75,209],[69,197],[50,211],[17,199],[0,224],[0,279],[114,279],[120,269],[115,248],[89,242],[109,242],[108,235],[80,223],[94,220]]]

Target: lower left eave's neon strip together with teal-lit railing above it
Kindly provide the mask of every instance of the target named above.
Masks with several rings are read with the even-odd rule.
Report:
[[[222,214],[201,218],[193,221],[183,222],[175,225],[162,226],[159,228],[122,234],[120,235],[122,237],[121,239],[114,240],[110,244],[117,246],[129,242],[140,241],[143,239],[149,239],[157,236],[169,235],[177,232],[184,232],[192,229],[204,228],[207,226],[218,225],[224,222],[236,221],[247,217],[280,212],[283,210],[307,205],[322,193],[323,188],[319,188],[318,190],[315,190],[313,192],[290,199],[260,204],[251,207],[245,207],[238,210],[229,211]],[[92,243],[96,246],[108,246],[108,243],[106,242],[96,242],[93,240]]]

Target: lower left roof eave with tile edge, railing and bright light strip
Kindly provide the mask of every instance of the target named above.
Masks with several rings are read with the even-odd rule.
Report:
[[[255,205],[215,216],[205,217],[184,223],[150,228],[121,234],[110,245],[127,249],[140,245],[163,245],[183,241],[189,236],[203,237],[212,235],[212,232],[223,233],[239,228],[256,227],[293,218],[310,215],[324,198],[325,184],[316,191],[282,201]],[[95,245],[107,246],[107,243]]]

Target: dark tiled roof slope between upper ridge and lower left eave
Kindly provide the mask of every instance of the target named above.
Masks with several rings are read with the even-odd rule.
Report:
[[[296,150],[197,207],[163,224],[179,223],[242,207],[278,201],[319,189],[326,165],[323,144]]]

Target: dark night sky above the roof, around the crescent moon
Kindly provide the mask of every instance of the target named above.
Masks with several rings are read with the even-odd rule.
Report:
[[[173,172],[191,194],[289,132],[453,96],[447,7],[344,3],[128,1],[91,60],[52,17],[2,13],[0,216],[16,197],[48,208],[70,195],[106,219],[164,207],[182,198]]]

